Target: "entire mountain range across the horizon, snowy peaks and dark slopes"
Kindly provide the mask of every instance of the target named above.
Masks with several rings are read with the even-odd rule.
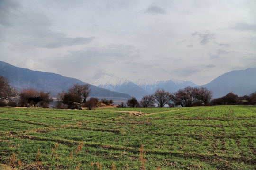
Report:
[[[86,84],[75,78],[19,68],[2,61],[0,61],[0,75],[7,77],[9,84],[18,91],[33,88],[50,92],[53,97],[56,97],[57,93],[62,90],[69,89],[75,83]],[[140,79],[132,82],[113,74],[97,74],[89,80],[89,83],[91,84],[90,97],[114,101],[127,101],[132,96],[140,100],[146,94],[153,94],[158,88],[175,92],[186,86],[198,86],[190,81],[174,79],[167,81]],[[202,86],[213,92],[213,98],[222,97],[229,92],[238,96],[250,95],[256,91],[256,68],[227,72]]]

